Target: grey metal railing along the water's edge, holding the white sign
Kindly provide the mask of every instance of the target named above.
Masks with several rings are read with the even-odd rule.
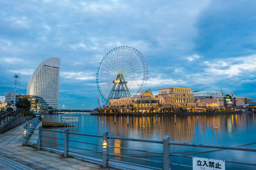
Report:
[[[34,122],[38,120],[33,120]],[[29,124],[29,122],[28,122]],[[35,129],[31,122],[31,127],[28,129]],[[28,134],[29,134],[28,130]],[[52,135],[47,135],[51,132]],[[54,137],[54,133],[58,134],[58,137]],[[73,137],[73,138],[72,138]],[[77,138],[74,139],[74,137]],[[24,138],[27,138],[24,136]],[[87,139],[83,139],[87,138]],[[88,139],[97,138],[97,143],[88,141]],[[153,145],[161,145],[162,150],[150,151],[136,148],[128,148],[121,146],[110,145],[110,140],[121,140],[121,141],[134,141],[138,143],[148,143]],[[26,140],[24,140],[26,142]],[[59,142],[58,142],[59,141]],[[77,145],[74,145],[76,143]],[[245,148],[239,146],[220,146],[220,145],[201,145],[193,143],[178,143],[171,142],[170,136],[164,136],[163,140],[148,140],[148,139],[134,139],[134,138],[121,138],[115,136],[109,136],[108,132],[104,132],[102,136],[93,134],[81,134],[77,132],[70,132],[69,129],[65,131],[58,131],[53,129],[42,129],[42,126],[38,128],[38,139],[37,148],[41,150],[51,150],[53,152],[61,153],[64,157],[77,157],[79,159],[84,159],[88,162],[93,162],[97,164],[102,164],[103,167],[117,167],[120,169],[170,169],[171,166],[187,167],[192,168],[191,165],[177,164],[170,162],[170,157],[185,157],[188,159],[193,158],[192,155],[182,155],[172,153],[170,151],[170,146],[193,146],[200,148],[214,148],[218,150],[239,150],[245,152],[256,152],[256,148]],[[81,146],[83,145],[83,146]],[[85,146],[86,145],[86,146]],[[87,145],[89,145],[87,147]],[[90,147],[91,146],[91,147]],[[92,149],[92,146],[95,148]],[[127,153],[115,153],[111,150],[124,150]],[[130,154],[128,152],[131,152]],[[142,156],[134,154],[134,152],[143,153]],[[146,154],[146,155],[145,155]],[[154,156],[152,156],[154,155]],[[156,159],[154,159],[156,158]],[[130,160],[130,161],[128,161]],[[191,161],[192,162],[192,161]],[[241,164],[248,166],[256,166],[255,163],[250,162],[239,162],[233,160],[225,160],[225,162],[232,164]]]

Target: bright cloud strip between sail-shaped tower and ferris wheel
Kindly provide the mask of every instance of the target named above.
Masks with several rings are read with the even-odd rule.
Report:
[[[79,72],[60,72],[63,78],[70,78],[75,80],[95,80],[95,75],[93,73],[85,73],[83,71]]]

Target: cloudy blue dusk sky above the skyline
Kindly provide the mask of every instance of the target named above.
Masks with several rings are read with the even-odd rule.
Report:
[[[60,104],[95,108],[100,60],[120,45],[148,64],[145,89],[189,87],[256,99],[256,1],[0,0],[0,96],[26,93],[60,57]]]

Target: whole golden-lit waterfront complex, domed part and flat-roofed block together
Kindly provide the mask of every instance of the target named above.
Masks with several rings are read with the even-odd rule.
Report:
[[[163,91],[163,94],[161,94]],[[153,112],[161,108],[195,107],[194,97],[191,89],[173,87],[159,89],[159,96],[154,96],[151,90],[140,92],[134,97],[122,97],[120,99],[110,99],[106,108],[125,108],[127,111],[138,110],[139,112]]]

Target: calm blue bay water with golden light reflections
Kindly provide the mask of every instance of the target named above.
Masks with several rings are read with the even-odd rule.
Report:
[[[52,122],[60,122],[58,115],[45,115],[44,120]],[[128,123],[128,124],[127,124]],[[255,143],[256,132],[256,116],[252,113],[236,114],[236,115],[200,115],[200,116],[177,116],[175,117],[96,117],[90,115],[79,116],[79,126],[70,128],[70,131],[83,134],[99,134],[108,131],[109,136],[119,136],[125,138],[140,139],[157,139],[162,140],[163,136],[168,135],[171,141],[200,143],[211,145],[238,146],[248,143]],[[218,130],[215,129],[218,127]],[[63,129],[64,130],[64,129]],[[49,133],[47,135],[64,138],[63,134]],[[46,134],[46,132],[45,132]],[[70,138],[89,143],[102,143],[102,139],[88,138],[85,136],[70,136]],[[49,140],[49,139],[48,139]],[[62,143],[62,140],[52,142]],[[49,145],[49,144],[48,144]],[[92,150],[102,150],[100,146],[88,146],[82,143],[70,143],[71,146],[89,147]],[[122,141],[119,139],[110,140],[109,145],[133,149],[151,150],[154,152],[163,152],[161,145],[156,143],[140,143],[134,141]],[[56,145],[57,146],[57,145]],[[254,145],[246,147],[255,148]],[[58,147],[63,147],[58,145]],[[209,152],[211,151],[211,152]],[[150,155],[139,152],[131,152],[120,150],[119,148],[111,148],[110,152],[125,155],[137,155],[147,157],[148,159],[161,160],[156,155]],[[171,146],[172,153],[194,155],[195,157],[209,157],[211,159],[238,160],[255,163],[256,153],[242,152],[234,150],[218,150],[209,148],[195,148],[189,146]],[[116,157],[116,159],[121,159]],[[172,162],[191,165],[192,160],[180,157],[172,157]],[[133,160],[134,161],[134,160]],[[152,165],[152,164],[148,164]],[[154,166],[156,165],[153,164]],[[182,169],[180,167],[172,167],[173,169]],[[226,169],[239,169],[241,166],[237,164],[226,163]],[[243,169],[253,169],[252,166],[243,166]],[[185,168],[186,169],[186,168]]]

